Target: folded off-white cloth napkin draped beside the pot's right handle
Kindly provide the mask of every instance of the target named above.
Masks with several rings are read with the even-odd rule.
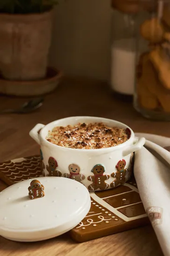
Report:
[[[170,256],[170,138],[145,133],[135,136],[146,138],[134,158],[139,194],[162,251]]]

